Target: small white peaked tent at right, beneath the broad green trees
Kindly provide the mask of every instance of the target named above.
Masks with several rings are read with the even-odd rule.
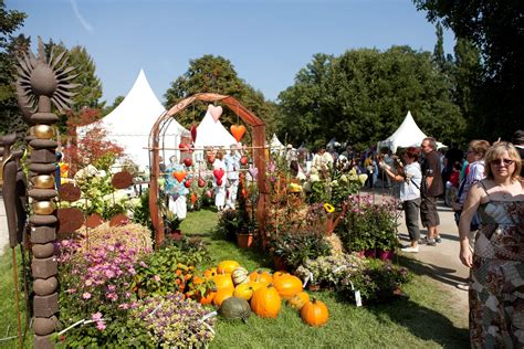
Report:
[[[382,141],[378,142],[378,149],[388,147],[392,152],[397,151],[397,148],[407,147],[420,147],[422,139],[427,136],[415,123],[411,112],[408,110],[406,118],[397,130]],[[437,142],[437,148],[444,148],[446,146],[441,142]]]

